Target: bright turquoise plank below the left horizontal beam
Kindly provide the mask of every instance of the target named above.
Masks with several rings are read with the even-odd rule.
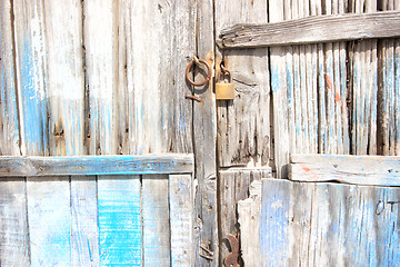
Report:
[[[139,176],[99,176],[100,266],[142,266]]]

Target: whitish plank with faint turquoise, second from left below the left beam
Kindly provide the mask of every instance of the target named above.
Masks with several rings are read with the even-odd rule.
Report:
[[[27,191],[31,266],[71,266],[69,178],[32,178]]]

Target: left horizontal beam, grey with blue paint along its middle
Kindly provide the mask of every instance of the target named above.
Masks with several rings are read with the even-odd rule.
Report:
[[[193,155],[0,157],[1,177],[192,174]]]

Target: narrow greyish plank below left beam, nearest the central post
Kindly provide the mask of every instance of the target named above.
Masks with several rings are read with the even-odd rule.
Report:
[[[191,175],[169,176],[171,266],[194,266]]]

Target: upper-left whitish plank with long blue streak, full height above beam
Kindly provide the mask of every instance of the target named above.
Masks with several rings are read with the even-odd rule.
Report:
[[[49,155],[47,47],[43,7],[13,1],[18,101],[22,155]]]

